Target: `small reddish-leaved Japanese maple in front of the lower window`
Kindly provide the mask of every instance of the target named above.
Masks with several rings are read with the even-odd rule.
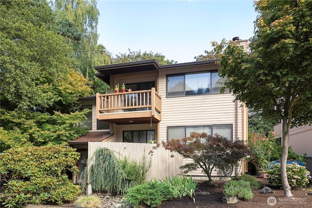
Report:
[[[184,158],[190,158],[194,162],[181,166],[185,172],[201,168],[213,183],[211,173],[215,168],[221,171],[232,169],[238,161],[250,154],[247,145],[243,141],[230,141],[220,135],[211,136],[207,133],[192,132],[190,137],[173,139],[163,146],[170,151],[176,151]]]

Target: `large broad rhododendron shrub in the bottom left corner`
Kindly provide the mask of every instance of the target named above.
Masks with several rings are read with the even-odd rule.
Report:
[[[78,189],[65,173],[78,173],[78,158],[74,148],[61,145],[15,147],[0,153],[1,205],[72,201]]]

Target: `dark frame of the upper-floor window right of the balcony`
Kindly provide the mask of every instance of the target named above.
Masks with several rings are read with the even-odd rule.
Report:
[[[210,74],[210,83],[209,83],[209,89],[210,92],[209,93],[204,93],[204,94],[194,94],[194,95],[186,95],[186,90],[185,90],[185,85],[186,85],[186,81],[185,81],[185,76],[186,75],[192,75],[192,74],[203,74],[203,73],[209,73]],[[214,70],[205,70],[205,71],[196,71],[196,72],[185,72],[185,73],[177,73],[177,74],[167,74],[166,75],[166,98],[176,98],[176,97],[188,97],[188,96],[198,96],[198,95],[217,95],[220,94],[219,93],[213,93],[213,89],[212,86],[215,85],[216,83],[213,83],[213,73],[218,73],[217,69]],[[184,95],[176,95],[176,96],[172,96],[169,95],[168,92],[168,78],[170,77],[177,77],[177,76],[183,76],[183,91],[184,91]],[[220,77],[220,76],[219,76]],[[229,90],[226,90],[224,92],[225,94],[230,93]]]

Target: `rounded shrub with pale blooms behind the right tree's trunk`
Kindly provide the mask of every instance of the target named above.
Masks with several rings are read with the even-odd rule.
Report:
[[[309,183],[308,176],[310,172],[305,166],[299,166],[297,163],[287,164],[287,178],[291,187],[306,187]],[[269,166],[268,170],[268,182],[274,186],[282,187],[281,178],[281,165],[276,163]]]

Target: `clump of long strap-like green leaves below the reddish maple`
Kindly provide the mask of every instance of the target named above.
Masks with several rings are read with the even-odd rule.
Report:
[[[192,176],[187,178],[187,176],[174,176],[172,178],[166,177],[163,182],[169,185],[174,193],[174,198],[181,198],[183,196],[189,196],[195,202],[195,190],[197,186],[197,181],[193,181]]]

